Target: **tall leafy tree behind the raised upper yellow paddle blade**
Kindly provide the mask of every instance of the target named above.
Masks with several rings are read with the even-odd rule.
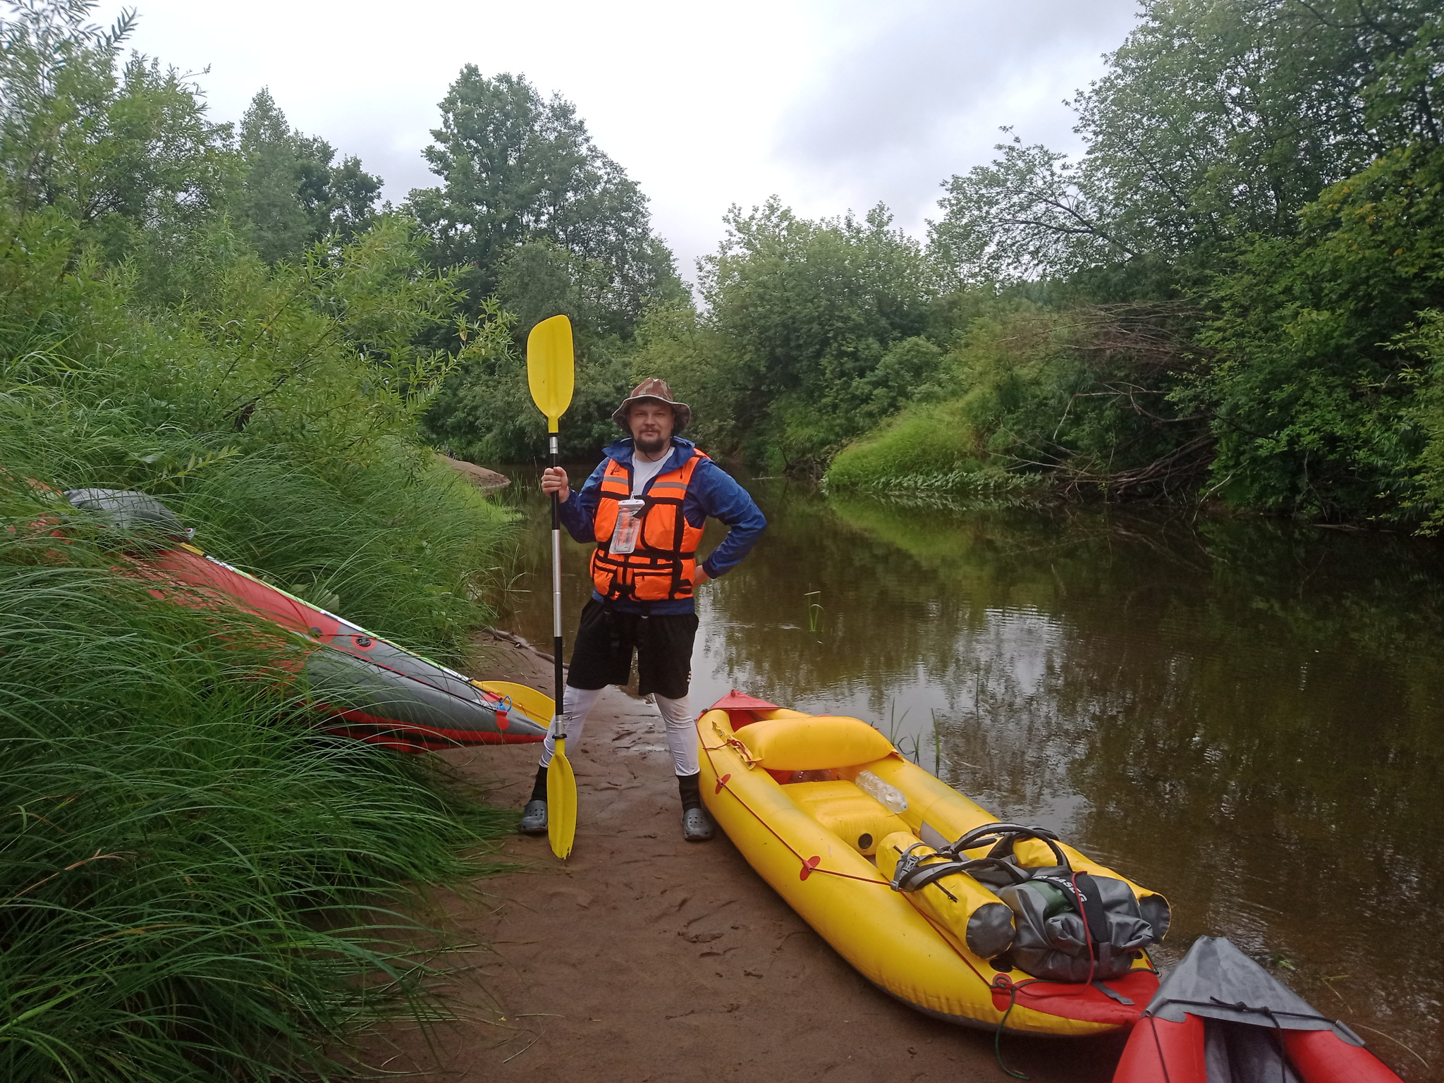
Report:
[[[569,101],[466,65],[440,108],[423,153],[442,185],[413,191],[407,208],[430,232],[432,261],[462,269],[471,310],[484,297],[505,308],[516,348],[451,378],[427,430],[464,455],[537,455],[544,430],[527,393],[524,342],[539,321],[565,313],[579,365],[565,451],[592,455],[617,433],[609,414],[631,387],[622,355],[638,318],[648,303],[683,296],[671,253],[651,231],[637,182]]]

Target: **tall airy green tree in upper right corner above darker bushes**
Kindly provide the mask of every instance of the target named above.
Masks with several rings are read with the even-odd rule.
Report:
[[[1326,185],[1441,134],[1434,0],[1151,0],[1108,62],[1073,101],[1082,160],[1014,142],[947,182],[933,243],[960,280],[1197,283],[1233,241],[1291,234]]]

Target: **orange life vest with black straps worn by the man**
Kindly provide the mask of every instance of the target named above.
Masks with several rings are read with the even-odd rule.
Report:
[[[631,553],[612,553],[608,543],[617,529],[617,504],[631,498],[631,478],[617,459],[606,462],[601,500],[592,533],[592,585],[608,601],[667,602],[690,598],[697,570],[697,543],[702,527],[687,523],[682,504],[697,464],[708,456],[699,451],[677,469],[663,471],[643,494],[641,536]]]

